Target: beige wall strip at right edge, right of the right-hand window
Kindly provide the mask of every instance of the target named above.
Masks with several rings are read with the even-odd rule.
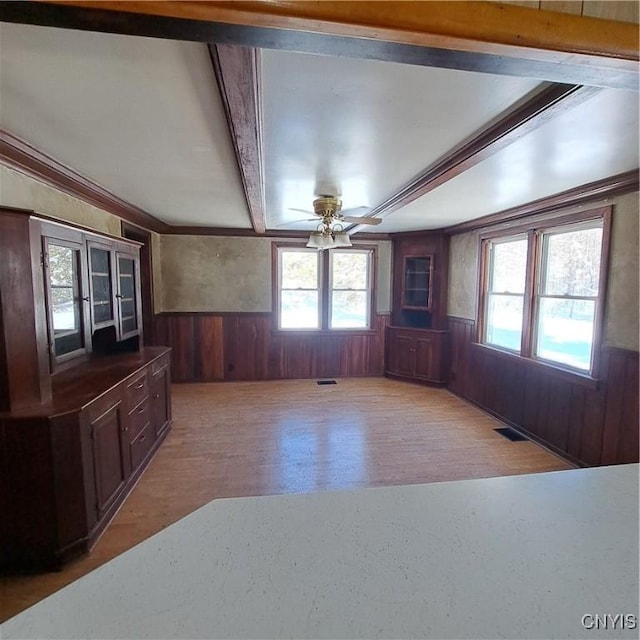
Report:
[[[614,201],[609,284],[604,322],[604,344],[638,350],[638,218],[637,193],[620,196]]]

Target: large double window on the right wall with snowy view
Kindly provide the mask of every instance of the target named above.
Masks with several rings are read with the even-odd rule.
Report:
[[[485,237],[480,342],[593,375],[609,220],[600,210]]]

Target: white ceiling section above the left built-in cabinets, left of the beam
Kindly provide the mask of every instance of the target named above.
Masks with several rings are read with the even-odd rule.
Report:
[[[251,227],[205,45],[3,23],[0,126],[165,222]]]

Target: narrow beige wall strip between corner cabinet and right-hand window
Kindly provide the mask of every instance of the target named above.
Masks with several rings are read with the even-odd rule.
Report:
[[[447,315],[475,320],[477,299],[478,236],[461,233],[449,245]]]

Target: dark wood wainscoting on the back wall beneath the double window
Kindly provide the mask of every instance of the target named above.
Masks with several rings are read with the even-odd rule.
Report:
[[[274,330],[271,313],[162,313],[157,344],[171,346],[174,382],[377,376],[387,315],[366,332]]]

